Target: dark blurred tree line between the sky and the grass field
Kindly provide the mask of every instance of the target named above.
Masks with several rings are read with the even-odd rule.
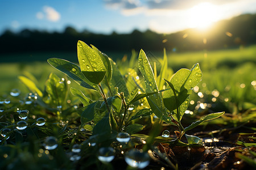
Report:
[[[244,14],[230,20],[222,20],[206,31],[186,29],[176,33],[162,34],[150,30],[109,35],[90,31],[77,31],[73,27],[64,32],[47,32],[23,29],[18,33],[6,30],[0,36],[0,53],[76,51],[76,43],[82,40],[102,51],[151,50],[185,52],[191,50],[214,50],[236,48],[256,42],[256,14]]]

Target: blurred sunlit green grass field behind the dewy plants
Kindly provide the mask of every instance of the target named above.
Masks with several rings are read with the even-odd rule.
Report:
[[[156,54],[156,57],[161,61],[162,52],[154,54]],[[42,54],[39,55],[42,56]],[[64,54],[62,53],[62,55]],[[250,88],[246,91],[250,92],[250,94],[246,94],[246,96],[242,98],[249,100],[253,99],[255,96],[252,95],[253,93],[255,94],[255,86],[253,86],[251,82],[256,80],[256,45],[240,49],[226,49],[208,52],[167,52],[167,55],[168,67],[171,67],[175,71],[181,67],[190,69],[194,63],[199,62],[201,70],[203,71],[202,83],[207,84],[207,87],[205,88],[209,88],[209,90],[217,89],[219,91],[224,91],[226,86],[232,86],[234,87],[234,94],[232,95],[235,96],[234,98],[236,98],[236,100],[238,100],[244,92],[240,92],[240,94],[238,94],[236,91],[239,92],[241,90],[241,88],[239,88],[241,84],[245,84],[246,88]],[[61,53],[53,53],[52,55],[47,53],[47,56],[63,58],[61,57]],[[27,54],[25,54],[24,57],[27,57]],[[74,57],[76,56],[74,55]],[[76,60],[76,58],[74,60]],[[117,63],[118,66],[127,65],[127,63],[123,63],[121,59],[119,59]],[[0,96],[9,94],[9,91],[13,88],[19,88],[24,93],[28,92],[26,87],[19,81],[19,75],[34,75],[38,80],[36,84],[39,84],[39,87],[43,90],[46,79],[51,72],[56,73],[60,77],[64,76],[60,71],[51,67],[47,61],[0,63]],[[125,73],[125,69],[123,70],[123,73]],[[76,86],[76,83],[72,83],[71,86]],[[235,87],[238,87],[238,90],[235,90]],[[254,102],[256,102],[255,99],[253,99],[253,103]]]

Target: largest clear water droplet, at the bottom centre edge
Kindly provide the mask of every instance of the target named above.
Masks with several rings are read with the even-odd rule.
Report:
[[[150,163],[150,156],[146,152],[136,149],[126,152],[125,162],[134,168],[145,168]]]

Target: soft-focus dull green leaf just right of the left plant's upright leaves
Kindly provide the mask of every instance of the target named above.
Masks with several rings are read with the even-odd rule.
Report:
[[[129,98],[129,91],[128,91],[127,86],[126,86],[125,79],[123,79],[123,76],[120,73],[116,63],[111,58],[109,58],[109,59],[110,59],[112,69],[113,69],[112,79],[109,83],[112,94],[115,94],[115,91],[116,91],[115,87],[118,87],[118,91],[123,92],[126,99],[128,99]]]

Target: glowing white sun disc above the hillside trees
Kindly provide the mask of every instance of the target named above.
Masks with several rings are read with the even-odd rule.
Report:
[[[199,3],[187,10],[188,27],[205,29],[217,20],[220,20],[221,14],[218,12],[218,6],[209,2]]]

